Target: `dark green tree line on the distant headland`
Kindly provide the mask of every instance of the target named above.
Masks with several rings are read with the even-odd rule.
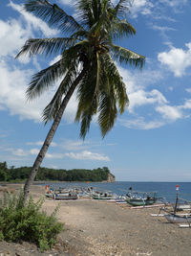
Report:
[[[23,181],[26,180],[32,167],[18,167],[11,166],[8,168],[7,162],[0,162],[0,181]],[[35,180],[56,180],[56,181],[103,181],[108,179],[110,170],[108,167],[97,168],[93,170],[87,169],[51,169],[40,167]]]

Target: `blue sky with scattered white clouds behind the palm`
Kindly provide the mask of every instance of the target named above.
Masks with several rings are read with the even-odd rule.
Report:
[[[32,166],[49,131],[41,114],[55,86],[33,102],[26,99],[32,75],[57,58],[15,59],[27,39],[60,36],[21,0],[0,1],[0,162]],[[72,0],[54,0],[75,15]],[[115,3],[115,2],[114,2]],[[137,35],[117,44],[146,61],[142,70],[119,65],[130,105],[102,139],[93,121],[83,141],[74,123],[75,95],[66,108],[42,166],[95,169],[107,166],[117,181],[191,182],[191,1],[135,0],[128,21]]]

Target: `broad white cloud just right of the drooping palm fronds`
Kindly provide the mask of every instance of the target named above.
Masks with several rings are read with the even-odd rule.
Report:
[[[163,80],[162,69],[159,72],[146,70],[139,72],[139,74],[125,73],[123,69],[119,69],[122,71],[122,76],[127,84],[127,91],[129,91],[128,112],[131,114],[127,120],[120,120],[122,126],[140,129],[159,128],[185,117],[182,111],[185,105],[172,106],[158,89],[149,91],[149,85],[156,84],[158,86],[158,83]],[[139,111],[143,105],[150,105],[145,113]],[[153,111],[155,112],[153,113]],[[139,112],[140,114],[138,114]]]

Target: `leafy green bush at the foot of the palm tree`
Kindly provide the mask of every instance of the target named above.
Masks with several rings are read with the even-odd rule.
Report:
[[[48,216],[41,210],[44,199],[29,199],[23,206],[23,191],[18,195],[4,194],[0,204],[0,240],[27,241],[37,244],[41,251],[53,247],[63,224],[55,218],[58,208]]]

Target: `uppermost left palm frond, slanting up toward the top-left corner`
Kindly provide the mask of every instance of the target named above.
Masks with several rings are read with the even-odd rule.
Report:
[[[35,16],[40,17],[51,27],[61,30],[65,33],[76,32],[83,29],[73,16],[68,15],[56,4],[51,4],[47,0],[28,0],[24,4],[27,12],[32,12]]]

